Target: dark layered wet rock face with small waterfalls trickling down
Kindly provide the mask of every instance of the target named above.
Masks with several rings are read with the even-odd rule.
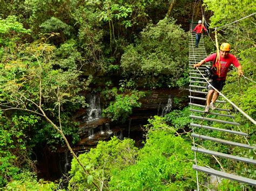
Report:
[[[175,109],[173,103],[174,97],[182,97],[187,95],[187,91],[180,89],[161,89],[152,90],[147,96],[140,100],[142,107],[134,108],[132,115],[127,119],[126,123],[111,122],[111,119],[102,117],[102,105],[98,95],[87,95],[87,103],[89,107],[80,109],[75,121],[80,123],[79,135],[80,142],[75,145],[76,150],[96,146],[99,140],[108,140],[112,136],[119,138],[132,137],[133,134],[142,134],[142,126],[147,124],[147,119],[154,116],[163,116]]]

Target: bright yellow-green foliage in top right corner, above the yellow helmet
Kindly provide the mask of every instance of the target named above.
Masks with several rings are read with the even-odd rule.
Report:
[[[230,24],[256,11],[253,1],[207,0],[204,1],[204,4],[207,10],[214,12],[214,15],[210,18],[211,28]],[[247,9],[248,7],[252,9]],[[235,12],[235,14],[233,14],[233,12]],[[255,35],[255,27],[250,27],[253,22],[254,18],[248,17],[224,27],[221,29],[222,31],[220,31],[222,37],[218,39],[219,43],[230,43],[234,54],[239,54],[241,51],[253,47],[254,41],[252,39]],[[255,47],[253,49],[255,49]]]

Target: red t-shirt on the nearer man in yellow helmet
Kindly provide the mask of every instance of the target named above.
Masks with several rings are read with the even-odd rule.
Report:
[[[215,58],[217,56],[217,53],[214,53],[210,56],[208,56],[205,61],[214,61]],[[228,72],[228,68],[230,67],[230,65],[233,64],[235,67],[240,66],[240,63],[238,62],[237,58],[235,58],[235,56],[233,54],[228,54],[227,58],[222,58],[220,56],[220,77],[222,79],[217,79],[217,80],[225,80],[226,76],[227,76],[227,72]],[[214,74],[217,75],[217,72],[215,72]]]

